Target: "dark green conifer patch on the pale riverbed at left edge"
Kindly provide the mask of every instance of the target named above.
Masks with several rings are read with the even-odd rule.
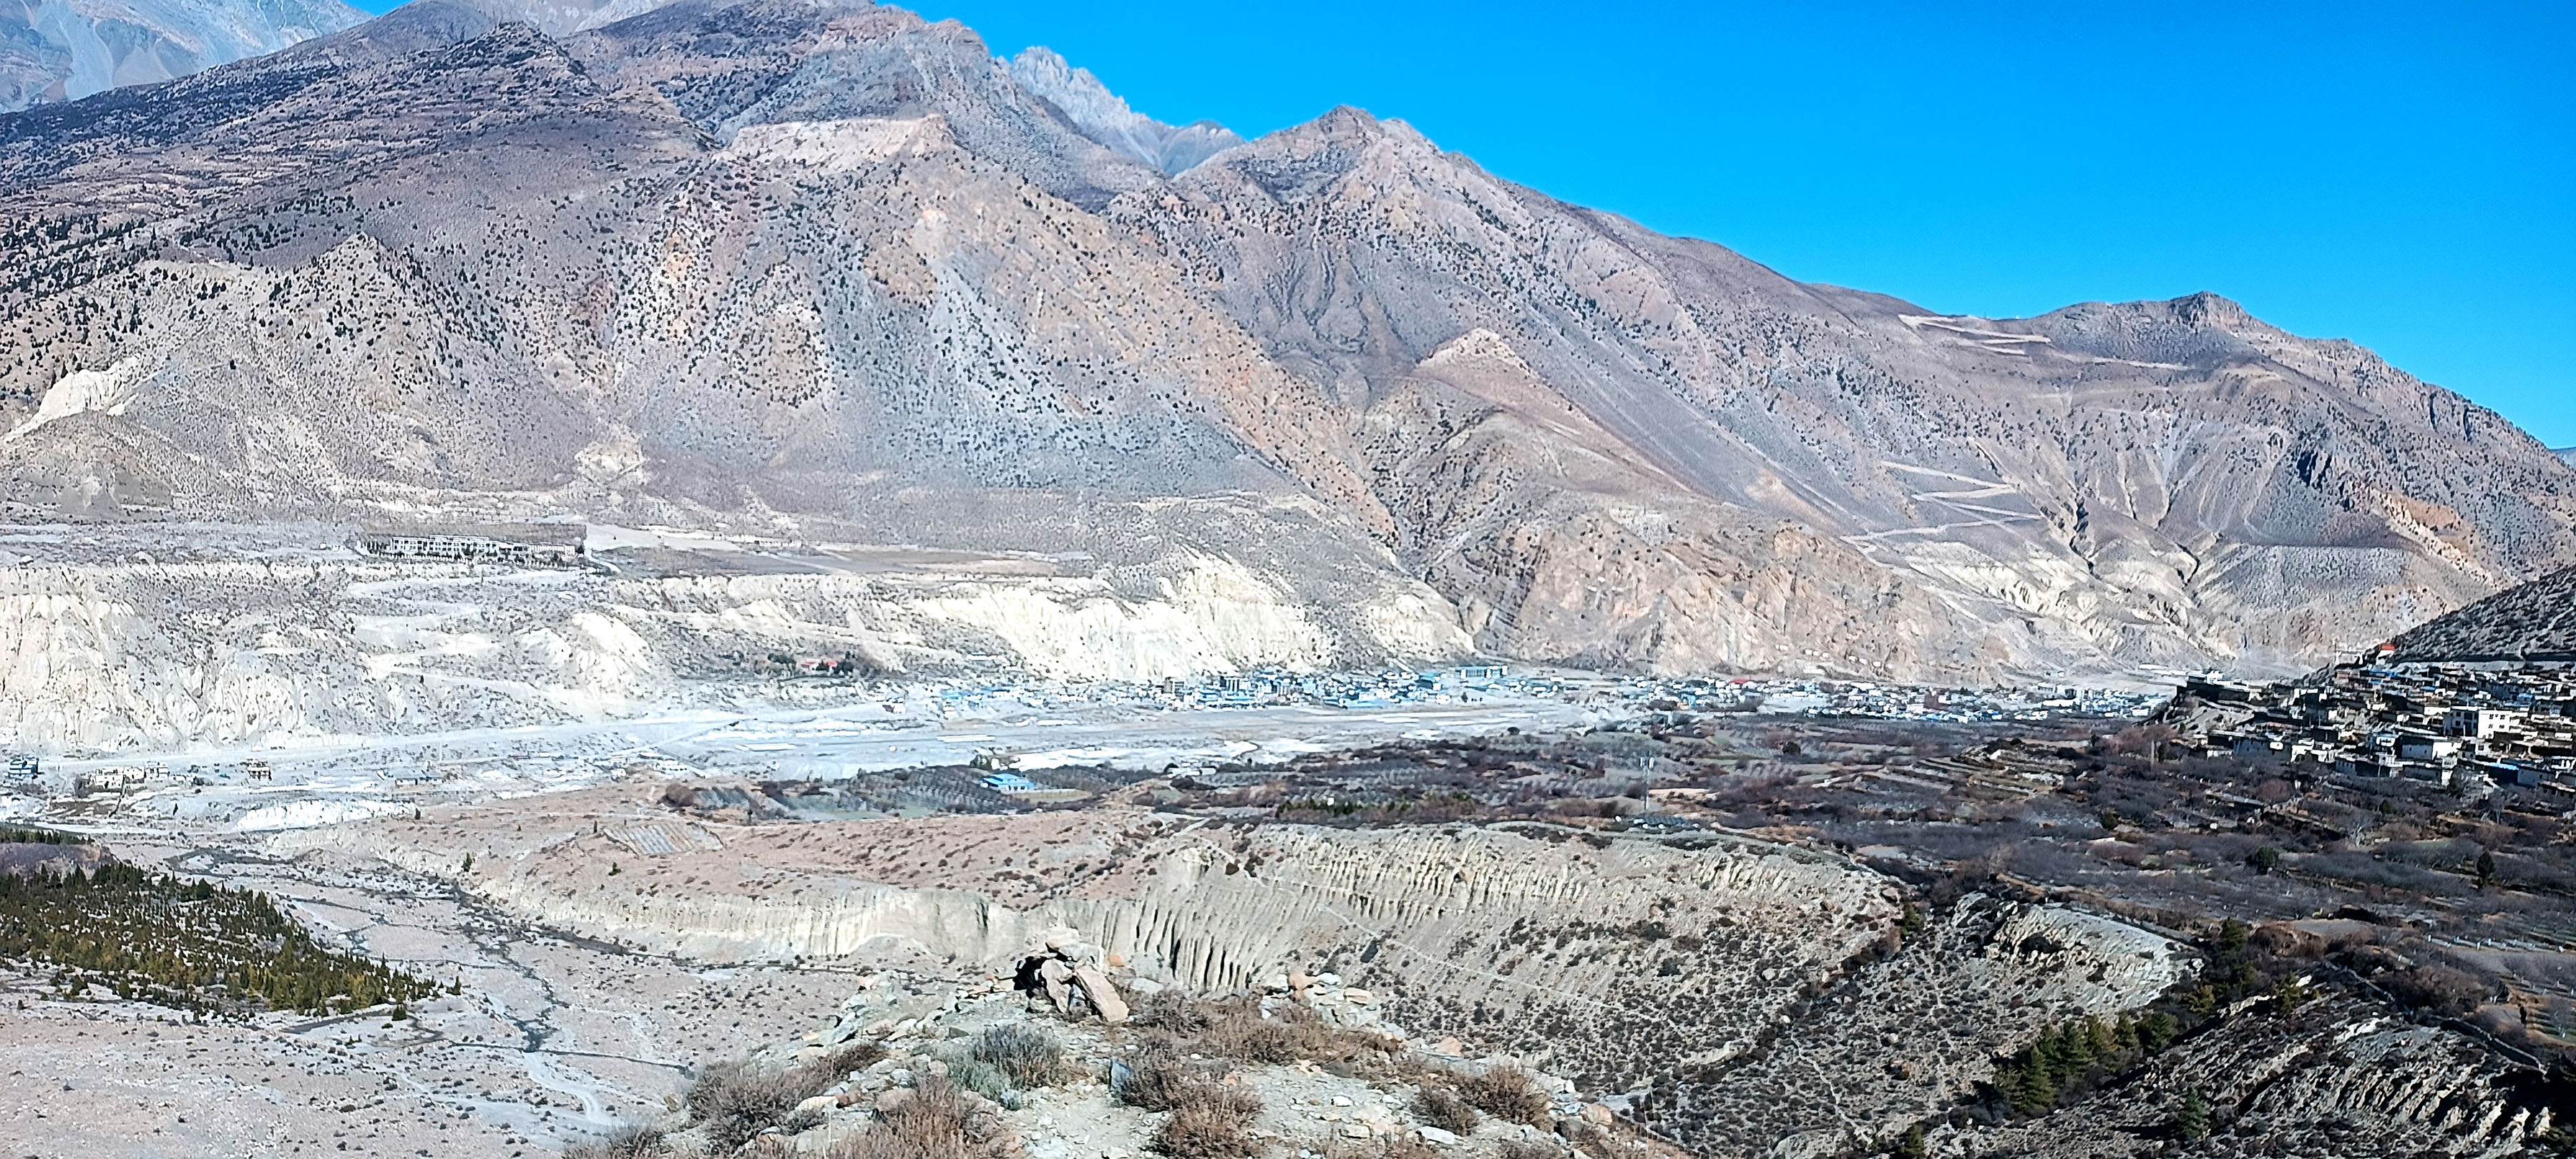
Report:
[[[0,873],[0,961],[52,966],[54,989],[175,1010],[312,1015],[402,1004],[438,984],[332,950],[265,894],[106,863],[70,873]]]

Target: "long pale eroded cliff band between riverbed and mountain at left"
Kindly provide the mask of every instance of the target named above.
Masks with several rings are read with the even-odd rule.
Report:
[[[1144,683],[1468,649],[1435,595],[1388,572],[1301,592],[1195,551],[974,564],[621,577],[312,551],[0,567],[0,729],[13,749],[85,755],[613,721],[773,703],[744,659],[775,652],[850,657],[866,677]]]

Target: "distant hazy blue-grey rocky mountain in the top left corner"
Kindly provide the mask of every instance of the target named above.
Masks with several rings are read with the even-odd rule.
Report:
[[[185,77],[361,21],[340,0],[21,0],[0,8],[0,113]]]

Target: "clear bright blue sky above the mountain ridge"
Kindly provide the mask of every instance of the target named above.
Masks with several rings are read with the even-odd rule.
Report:
[[[2576,446],[2576,5],[922,0],[1950,314],[2218,291]]]

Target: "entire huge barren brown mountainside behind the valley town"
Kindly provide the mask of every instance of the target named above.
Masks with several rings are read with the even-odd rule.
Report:
[[[891,8],[428,0],[5,118],[0,500],[1023,551],[1316,623],[1103,675],[2277,670],[2576,561],[2566,464],[2223,299],[1932,317],[1355,111],[1170,175],[1216,131],[1069,77]]]

